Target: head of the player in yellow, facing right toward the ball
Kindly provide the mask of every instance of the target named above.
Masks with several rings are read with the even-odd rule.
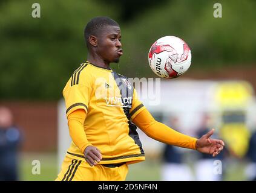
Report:
[[[109,17],[94,17],[84,30],[90,54],[97,54],[105,62],[119,62],[122,55],[119,24]]]

